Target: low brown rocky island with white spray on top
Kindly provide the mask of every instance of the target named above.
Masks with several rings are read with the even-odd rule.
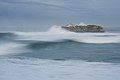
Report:
[[[104,28],[99,25],[86,25],[84,23],[76,24],[67,24],[66,26],[62,26],[63,29],[72,31],[72,32],[105,32]]]

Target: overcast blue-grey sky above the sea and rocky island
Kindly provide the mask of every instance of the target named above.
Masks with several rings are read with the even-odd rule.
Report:
[[[120,29],[120,0],[0,0],[0,31],[84,22]]]

